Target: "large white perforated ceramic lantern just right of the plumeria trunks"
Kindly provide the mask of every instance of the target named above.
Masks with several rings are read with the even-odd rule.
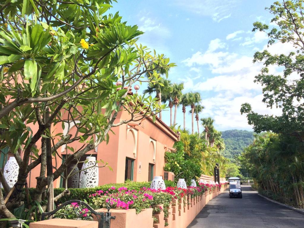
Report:
[[[92,167],[96,164],[96,158],[87,157],[86,159],[88,162],[83,163],[81,167],[82,171],[80,172],[79,188],[94,188],[98,186],[98,168],[96,166]]]

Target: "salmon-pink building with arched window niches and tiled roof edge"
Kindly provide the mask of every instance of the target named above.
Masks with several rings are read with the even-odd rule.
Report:
[[[128,119],[127,115],[127,111],[119,112],[116,122]],[[31,125],[30,127],[33,132],[36,131],[36,126]],[[73,127],[73,123],[71,123],[70,127],[69,133],[74,134],[77,128]],[[66,134],[61,125],[52,126],[51,131],[54,135],[58,133]],[[156,122],[153,123],[152,118],[149,117],[141,122],[130,122],[114,127],[112,131],[114,133],[109,133],[110,140],[108,144],[102,142],[95,150],[90,151],[90,153],[81,158],[83,161],[86,156],[92,155],[96,157],[96,160],[108,162],[113,169],[111,171],[108,167],[98,168],[98,185],[123,183],[127,179],[132,181],[151,181],[154,176],[164,176],[164,153],[172,150],[172,146],[179,139],[179,135],[174,133],[163,121],[157,118]],[[83,143],[74,142],[68,146],[73,147],[76,151],[82,145]],[[38,141],[36,146],[40,149],[41,141]],[[57,151],[63,157],[66,155],[65,146],[62,146]],[[4,167],[6,160],[12,156],[5,153],[5,150],[1,153],[0,166],[2,167]],[[57,159],[57,163],[60,162],[61,160]],[[55,165],[54,160],[53,164]],[[81,169],[81,166],[82,163],[79,163],[78,168]],[[29,187],[36,187],[36,177],[39,176],[39,173],[40,165],[31,170],[27,178]],[[63,183],[63,178],[59,177],[54,181],[54,187],[63,187]]]

